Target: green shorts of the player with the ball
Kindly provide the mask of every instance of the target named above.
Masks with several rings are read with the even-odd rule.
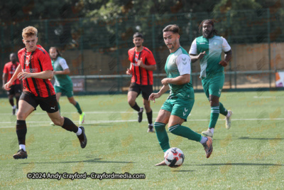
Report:
[[[192,110],[193,105],[195,104],[195,100],[181,100],[178,98],[165,100],[161,110],[167,110],[170,112],[170,115],[176,115],[182,119],[187,121],[188,115]]]

